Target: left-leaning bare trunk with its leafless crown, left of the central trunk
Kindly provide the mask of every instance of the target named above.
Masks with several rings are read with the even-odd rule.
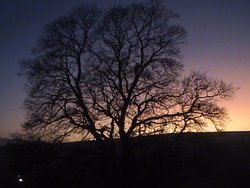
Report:
[[[21,74],[28,78],[27,130],[56,141],[71,134],[85,137],[90,130],[99,138],[82,86],[99,16],[99,9],[85,5],[48,24],[33,50],[36,57],[21,62]]]

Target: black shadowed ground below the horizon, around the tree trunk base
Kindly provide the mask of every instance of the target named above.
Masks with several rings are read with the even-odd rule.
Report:
[[[169,134],[132,143],[130,177],[123,177],[130,178],[128,187],[250,187],[250,132]],[[110,179],[94,142],[0,148],[1,188],[120,187]]]

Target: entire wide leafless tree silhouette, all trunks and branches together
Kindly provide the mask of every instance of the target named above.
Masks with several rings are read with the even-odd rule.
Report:
[[[102,12],[83,5],[48,24],[34,58],[21,62],[24,130],[54,141],[95,139],[126,161],[130,137],[203,130],[209,123],[223,128],[227,113],[218,101],[235,88],[203,73],[181,75],[186,32],[175,18],[151,0]]]

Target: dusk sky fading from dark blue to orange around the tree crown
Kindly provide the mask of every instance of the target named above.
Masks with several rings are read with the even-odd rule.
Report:
[[[88,1],[87,1],[88,2]],[[140,0],[92,0],[100,7]],[[250,1],[164,0],[180,14],[187,30],[182,62],[187,71],[233,83],[233,100],[222,103],[229,113],[226,131],[250,131]],[[43,27],[67,15],[83,0],[0,0],[0,137],[20,130],[25,79],[18,76]]]

